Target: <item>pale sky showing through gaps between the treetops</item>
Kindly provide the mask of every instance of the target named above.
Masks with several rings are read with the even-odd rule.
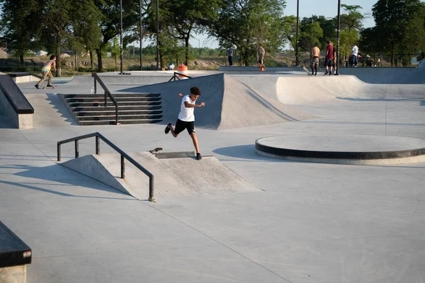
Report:
[[[310,17],[312,15],[325,16],[332,18],[338,14],[338,0],[299,0],[300,1],[300,19],[303,17]],[[361,13],[369,13],[369,17],[363,20],[365,28],[371,28],[375,25],[372,17],[372,7],[378,0],[341,0],[341,4],[358,5],[361,6]],[[341,13],[344,10],[341,8]],[[284,16],[297,15],[297,0],[286,0],[286,8]],[[217,48],[218,42],[214,39],[208,39],[207,35],[193,35],[190,44],[193,47],[211,47]]]

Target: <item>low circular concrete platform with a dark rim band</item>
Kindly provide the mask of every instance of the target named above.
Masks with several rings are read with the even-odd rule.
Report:
[[[257,139],[258,154],[293,161],[390,165],[425,162],[425,140],[373,135],[287,135]]]

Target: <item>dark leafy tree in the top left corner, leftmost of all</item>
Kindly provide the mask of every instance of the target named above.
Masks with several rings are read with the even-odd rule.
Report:
[[[18,54],[21,64],[30,49],[36,47],[35,34],[40,22],[40,6],[37,0],[0,0],[3,11],[0,20],[0,36],[6,40],[8,49]]]

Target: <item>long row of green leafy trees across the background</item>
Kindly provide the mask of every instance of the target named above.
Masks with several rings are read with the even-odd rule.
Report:
[[[21,63],[28,50],[73,50],[87,52],[91,66],[97,57],[101,71],[106,48],[113,46],[116,56],[120,0],[0,0],[0,8],[0,40]],[[284,16],[284,8],[285,0],[159,0],[160,65],[179,58],[187,64],[189,40],[195,33],[217,38],[221,47],[236,47],[239,63],[245,65],[256,59],[260,44],[271,54],[288,43],[294,48],[297,18]],[[341,8],[341,57],[349,56],[355,43],[365,52],[390,52],[392,64],[397,63],[397,53],[424,51],[425,5],[420,0],[378,0],[373,28],[363,28],[370,15],[363,15],[361,6]],[[155,40],[157,0],[123,0],[122,11],[124,48],[140,37]],[[310,51],[316,42],[319,47],[327,40],[336,42],[336,20],[302,18],[300,50]],[[59,56],[57,60],[60,76]]]

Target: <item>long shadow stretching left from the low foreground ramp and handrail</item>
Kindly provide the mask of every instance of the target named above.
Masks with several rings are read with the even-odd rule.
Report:
[[[45,167],[35,167],[28,165],[10,165],[10,166],[0,166],[1,168],[13,168],[13,169],[23,169],[19,173],[13,175],[18,175],[20,177],[33,178],[38,180],[48,180],[57,183],[33,183],[33,182],[11,182],[6,180],[0,180],[0,184],[7,185],[16,185],[18,187],[23,187],[28,190],[37,190],[40,192],[47,192],[54,195],[60,195],[62,197],[84,197],[84,198],[94,198],[94,199],[106,199],[106,200],[133,200],[136,199],[125,195],[123,192],[115,190],[113,187],[108,187],[102,183],[99,183],[97,180],[81,175],[77,172],[74,172],[68,168],[64,168],[59,164],[45,166]],[[10,174],[9,174],[10,175]],[[47,186],[64,186],[62,191],[59,190],[50,190],[47,189]],[[72,194],[73,187],[86,187],[87,189],[92,190],[101,190],[104,192],[111,192],[116,195],[123,197],[98,197],[94,195],[74,195]],[[126,197],[124,197],[126,196]]]

